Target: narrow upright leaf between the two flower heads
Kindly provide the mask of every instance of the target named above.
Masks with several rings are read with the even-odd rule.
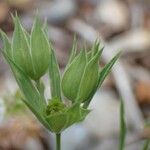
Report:
[[[50,56],[50,65],[49,65],[49,78],[50,78],[50,87],[52,98],[57,97],[61,100],[61,85],[60,85],[60,72],[58,62],[54,50],[52,49]]]

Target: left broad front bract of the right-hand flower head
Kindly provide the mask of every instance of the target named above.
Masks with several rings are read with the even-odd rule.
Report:
[[[62,91],[69,100],[75,101],[77,98],[79,84],[86,66],[85,51],[81,51],[72,61],[62,78]]]

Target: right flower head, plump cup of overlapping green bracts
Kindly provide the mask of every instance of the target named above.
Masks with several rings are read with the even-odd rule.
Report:
[[[99,46],[86,53],[84,50],[68,65],[62,78],[62,91],[66,98],[75,102],[88,100],[99,79]]]

